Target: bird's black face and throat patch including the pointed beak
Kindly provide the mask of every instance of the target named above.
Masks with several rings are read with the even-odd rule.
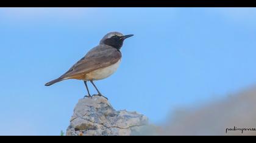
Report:
[[[133,35],[126,35],[126,36],[112,36],[111,38],[105,39],[104,44],[110,45],[118,50],[123,46],[124,39],[129,38]]]

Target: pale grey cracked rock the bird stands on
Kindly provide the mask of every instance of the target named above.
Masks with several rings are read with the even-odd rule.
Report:
[[[130,136],[140,135],[148,126],[148,118],[137,112],[116,111],[101,96],[80,99],[74,108],[67,136]]]

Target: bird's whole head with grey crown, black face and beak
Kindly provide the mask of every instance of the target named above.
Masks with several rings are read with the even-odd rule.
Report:
[[[123,46],[123,42],[126,38],[129,38],[133,35],[123,35],[119,32],[110,32],[107,33],[102,39],[100,44],[110,45],[116,49],[120,49]]]

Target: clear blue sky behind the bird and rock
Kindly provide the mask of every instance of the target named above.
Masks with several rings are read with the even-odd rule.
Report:
[[[0,135],[65,131],[84,84],[44,84],[112,31],[135,36],[118,71],[95,84],[153,124],[256,82],[255,8],[0,8]]]

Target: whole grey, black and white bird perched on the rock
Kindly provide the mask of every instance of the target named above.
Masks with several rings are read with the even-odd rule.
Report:
[[[49,86],[66,79],[83,80],[88,92],[88,96],[85,97],[92,97],[87,86],[87,81],[90,81],[98,91],[98,95],[103,96],[93,81],[107,78],[117,70],[121,62],[120,49],[123,46],[124,39],[131,36],[133,35],[124,36],[119,32],[108,33],[101,39],[98,46],[92,48],[84,58],[74,64],[64,75],[45,85]]]

